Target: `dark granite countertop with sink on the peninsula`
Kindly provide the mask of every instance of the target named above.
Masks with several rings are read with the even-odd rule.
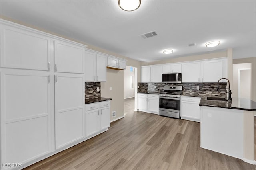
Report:
[[[232,98],[231,102],[224,102],[218,100],[206,100],[206,97],[202,97],[199,105],[227,109],[256,111],[256,102],[246,98]]]

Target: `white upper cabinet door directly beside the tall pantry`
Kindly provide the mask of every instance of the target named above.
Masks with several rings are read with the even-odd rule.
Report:
[[[95,69],[96,68],[96,54],[86,51],[85,52],[85,72],[84,81],[95,81]]]

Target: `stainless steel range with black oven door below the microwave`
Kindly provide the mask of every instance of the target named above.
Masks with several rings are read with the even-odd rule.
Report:
[[[159,115],[180,119],[182,86],[164,86],[159,94]]]

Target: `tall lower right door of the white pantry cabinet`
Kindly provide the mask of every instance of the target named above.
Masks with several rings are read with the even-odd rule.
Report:
[[[82,74],[55,77],[55,145],[60,148],[84,136],[84,79]]]

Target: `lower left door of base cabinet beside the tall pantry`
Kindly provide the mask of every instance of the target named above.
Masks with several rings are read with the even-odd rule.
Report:
[[[100,131],[99,109],[86,112],[86,137]]]

